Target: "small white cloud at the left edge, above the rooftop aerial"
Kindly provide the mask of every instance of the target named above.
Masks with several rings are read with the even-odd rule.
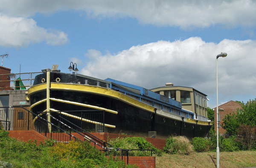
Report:
[[[0,46],[24,47],[46,41],[50,45],[67,43],[67,34],[38,27],[35,20],[0,14]]]

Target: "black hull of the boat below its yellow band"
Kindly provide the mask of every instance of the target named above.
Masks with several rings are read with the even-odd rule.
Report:
[[[33,93],[30,96],[32,104],[46,97],[46,91]],[[195,136],[205,137],[211,125],[198,125],[161,116],[156,112],[149,112],[131,104],[127,104],[119,99],[108,96],[96,95],[92,93],[74,92],[68,90],[51,90],[51,98],[76,101],[83,104],[91,104],[97,107],[104,107],[115,110],[118,114],[105,112],[105,123],[115,125],[115,128],[106,127],[105,132],[125,133],[135,136],[148,136],[148,131],[156,131],[157,137],[168,138],[172,135],[182,135],[192,138]],[[93,110],[93,108],[82,107],[75,104],[50,101],[51,108],[58,111],[68,110]],[[46,102],[32,107],[33,112],[42,112],[46,107]]]

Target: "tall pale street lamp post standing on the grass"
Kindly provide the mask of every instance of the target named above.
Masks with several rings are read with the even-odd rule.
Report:
[[[216,151],[217,151],[217,168],[219,168],[220,167],[220,148],[219,148],[219,146],[218,146],[218,116],[219,116],[219,113],[218,113],[218,58],[219,57],[226,57],[227,56],[227,53],[226,52],[221,52],[221,54],[218,54],[217,56],[216,56],[216,104],[217,104],[217,107],[216,107],[216,112],[217,112],[217,125],[216,125],[216,128],[217,128],[217,148],[216,148]]]

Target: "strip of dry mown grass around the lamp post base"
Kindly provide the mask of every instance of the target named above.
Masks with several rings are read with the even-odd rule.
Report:
[[[256,151],[220,152],[221,168],[256,166]],[[216,152],[202,152],[189,155],[162,154],[156,157],[157,168],[215,168]]]

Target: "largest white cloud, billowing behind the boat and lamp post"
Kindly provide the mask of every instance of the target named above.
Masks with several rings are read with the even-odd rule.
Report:
[[[193,37],[184,41],[157,41],[132,46],[116,55],[90,50],[90,62],[80,73],[96,78],[113,78],[151,89],[166,82],[193,87],[213,100],[216,94],[216,55],[218,58],[219,96],[232,100],[255,95],[256,41],[223,40],[207,43]],[[239,100],[239,99],[235,99]]]

